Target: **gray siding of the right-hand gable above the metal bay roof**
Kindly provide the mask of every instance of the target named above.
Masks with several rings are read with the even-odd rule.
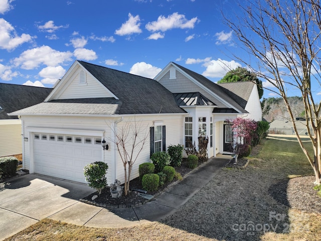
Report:
[[[200,92],[205,97],[212,100],[218,107],[226,107],[220,100],[209,94],[207,91],[193,83],[179,71],[176,71],[176,79],[170,79],[170,71],[158,81],[173,93]]]

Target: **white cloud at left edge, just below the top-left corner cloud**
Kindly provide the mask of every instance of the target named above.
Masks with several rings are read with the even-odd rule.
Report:
[[[1,1],[1,0],[0,0]],[[14,27],[4,19],[0,19],[0,48],[13,50],[19,45],[30,42],[32,37],[29,34],[18,36]]]

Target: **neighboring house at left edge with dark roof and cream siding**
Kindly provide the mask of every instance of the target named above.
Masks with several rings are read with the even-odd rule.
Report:
[[[0,157],[15,156],[22,160],[21,119],[8,113],[43,102],[51,90],[0,83]]]

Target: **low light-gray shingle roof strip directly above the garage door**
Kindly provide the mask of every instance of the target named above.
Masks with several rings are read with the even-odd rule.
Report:
[[[118,114],[121,100],[115,98],[57,99],[19,111],[19,114]]]

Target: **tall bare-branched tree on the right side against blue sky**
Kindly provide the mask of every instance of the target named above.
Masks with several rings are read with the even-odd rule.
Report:
[[[251,71],[272,84],[284,100],[297,140],[311,164],[315,184],[320,184],[321,120],[320,103],[314,102],[311,81],[320,84],[321,8],[319,0],[256,0],[239,6],[244,13],[225,23],[256,63],[237,58]],[[256,69],[256,70],[255,70]],[[301,141],[287,92],[296,89],[302,96],[306,128],[313,145],[310,155]],[[315,94],[315,93],[314,93]],[[306,144],[309,145],[309,144]]]

